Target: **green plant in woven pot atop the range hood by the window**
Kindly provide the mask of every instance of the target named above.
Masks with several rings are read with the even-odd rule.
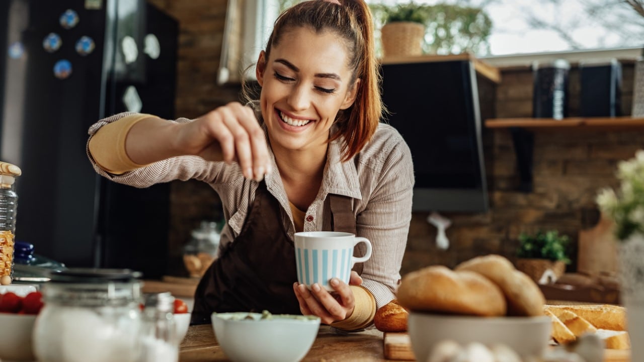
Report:
[[[383,24],[381,41],[385,57],[421,55],[428,5],[402,3],[370,5],[377,20]]]

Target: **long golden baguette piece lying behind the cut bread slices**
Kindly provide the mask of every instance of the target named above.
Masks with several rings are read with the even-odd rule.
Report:
[[[546,308],[555,315],[556,310],[570,310],[589,321],[597,329],[627,330],[626,310],[618,305],[547,305]]]

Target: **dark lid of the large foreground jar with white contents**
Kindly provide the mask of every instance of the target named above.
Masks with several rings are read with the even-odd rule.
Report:
[[[141,278],[142,273],[131,269],[69,268],[50,272],[53,283],[128,283]]]

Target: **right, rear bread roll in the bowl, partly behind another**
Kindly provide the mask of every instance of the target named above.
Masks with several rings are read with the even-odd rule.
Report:
[[[473,271],[497,284],[507,299],[509,316],[542,316],[545,298],[529,276],[500,255],[478,256],[460,263],[456,271]]]

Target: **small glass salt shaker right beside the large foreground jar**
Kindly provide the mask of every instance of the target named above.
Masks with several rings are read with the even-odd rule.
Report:
[[[178,362],[174,307],[175,297],[170,292],[146,294],[140,362]]]

